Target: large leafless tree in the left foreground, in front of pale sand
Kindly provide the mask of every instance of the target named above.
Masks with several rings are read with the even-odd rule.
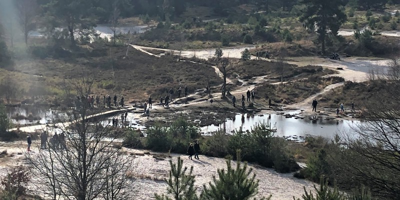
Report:
[[[78,96],[90,93],[92,79],[82,77],[73,82],[71,87]],[[125,173],[132,160],[120,147],[114,147],[122,132],[109,128],[109,120],[100,115],[93,121],[88,114],[90,105],[82,102],[67,112],[69,122],[55,129],[63,136],[47,141],[48,150],[26,154],[36,174],[34,191],[53,200],[126,199],[131,179]]]

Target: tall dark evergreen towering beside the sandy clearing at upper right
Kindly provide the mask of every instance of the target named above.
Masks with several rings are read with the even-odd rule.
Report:
[[[305,22],[310,29],[316,28],[318,42],[321,43],[322,54],[325,54],[327,32],[337,35],[342,23],[346,21],[346,14],[341,9],[344,0],[301,0],[306,5],[300,20]]]

